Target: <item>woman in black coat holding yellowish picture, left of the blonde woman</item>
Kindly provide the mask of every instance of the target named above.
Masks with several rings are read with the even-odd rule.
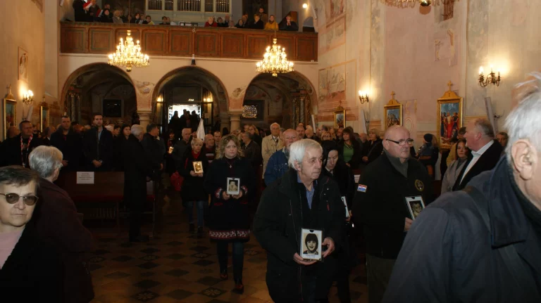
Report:
[[[184,191],[182,196],[182,205],[188,212],[189,232],[193,233],[194,225],[194,205],[197,208],[197,234],[203,233],[205,205],[209,200],[209,195],[203,190],[204,177],[209,168],[209,160],[205,153],[201,153],[203,140],[192,138],[192,148],[187,148],[184,154],[184,166],[178,167],[178,173],[184,177]],[[203,172],[200,170],[203,169]]]

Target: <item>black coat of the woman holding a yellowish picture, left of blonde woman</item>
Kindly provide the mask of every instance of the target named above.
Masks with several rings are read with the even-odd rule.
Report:
[[[209,194],[204,191],[205,177],[209,173],[209,160],[206,159],[203,150],[194,157],[192,148],[188,148],[185,153],[185,164],[182,167],[178,167],[178,173],[184,177],[184,184],[182,184],[182,203],[189,201],[209,201]],[[194,162],[201,161],[203,165],[203,176],[192,176],[189,172],[194,170]]]

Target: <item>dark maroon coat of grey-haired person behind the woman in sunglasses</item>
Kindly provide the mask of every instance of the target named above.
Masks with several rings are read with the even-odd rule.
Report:
[[[62,188],[41,179],[38,196],[32,221],[39,237],[54,243],[62,258],[64,302],[89,302],[94,290],[83,254],[94,248],[92,233],[82,226],[73,200]]]

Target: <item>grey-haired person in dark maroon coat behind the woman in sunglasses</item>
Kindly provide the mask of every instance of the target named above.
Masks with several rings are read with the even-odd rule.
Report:
[[[62,153],[53,146],[38,146],[30,153],[30,168],[39,174],[39,204],[34,216],[37,233],[51,240],[63,261],[63,302],[89,302],[94,298],[92,280],[85,266],[85,252],[94,248],[92,234],[82,226],[70,195],[53,183],[60,173]]]

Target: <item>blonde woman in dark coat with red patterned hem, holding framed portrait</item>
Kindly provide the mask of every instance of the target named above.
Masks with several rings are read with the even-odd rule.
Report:
[[[242,267],[244,243],[250,235],[249,202],[255,194],[255,174],[249,160],[242,158],[239,139],[234,135],[224,136],[219,143],[216,159],[209,167],[205,179],[205,190],[211,194],[209,215],[210,238],[216,241],[220,278],[228,278],[228,245],[232,243],[233,277],[235,292],[243,293]],[[238,195],[229,195],[228,178],[240,179]]]

